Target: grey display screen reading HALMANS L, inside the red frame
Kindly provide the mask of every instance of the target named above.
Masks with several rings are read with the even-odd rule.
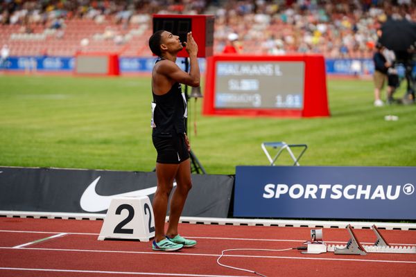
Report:
[[[304,62],[217,62],[217,109],[302,109]]]

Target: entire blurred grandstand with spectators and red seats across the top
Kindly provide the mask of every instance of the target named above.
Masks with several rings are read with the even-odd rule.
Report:
[[[8,44],[10,55],[148,56],[153,13],[203,13],[216,16],[214,53],[223,50],[229,33],[238,33],[243,53],[280,48],[279,53],[369,58],[387,17],[416,19],[413,1],[78,2],[3,1],[0,45]]]

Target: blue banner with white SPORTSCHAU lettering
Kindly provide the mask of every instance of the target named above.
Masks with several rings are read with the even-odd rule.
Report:
[[[416,220],[415,167],[237,166],[235,217]]]

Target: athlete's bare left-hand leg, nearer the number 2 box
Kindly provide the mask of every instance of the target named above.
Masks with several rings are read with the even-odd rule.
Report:
[[[179,164],[156,163],[157,189],[152,203],[153,213],[155,215],[156,242],[165,239],[164,223],[168,208],[168,199],[178,168],[180,168]]]

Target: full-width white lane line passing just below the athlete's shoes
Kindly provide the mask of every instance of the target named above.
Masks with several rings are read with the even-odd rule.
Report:
[[[0,249],[14,249],[12,247],[0,247]],[[202,257],[216,257],[220,254],[202,254],[202,253],[169,253],[160,251],[118,251],[118,250],[91,250],[91,249],[55,249],[55,248],[18,248],[14,250],[38,250],[38,251],[69,251],[69,252],[92,252],[92,253],[124,253],[124,254],[150,254],[150,255],[175,255],[175,256],[202,256]],[[270,258],[270,259],[289,259],[289,260],[340,260],[349,262],[388,262],[388,263],[404,263],[415,264],[412,260],[365,260],[365,259],[348,259],[348,258],[315,258],[315,257],[290,257],[290,256],[250,256],[250,255],[223,255],[223,257],[236,258]]]

